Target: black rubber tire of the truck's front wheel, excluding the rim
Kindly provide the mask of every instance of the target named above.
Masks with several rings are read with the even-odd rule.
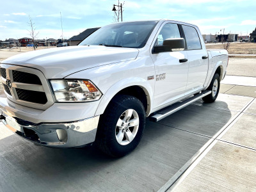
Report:
[[[138,128],[136,128],[138,131],[131,143],[127,145],[120,145],[116,138],[118,130],[120,131],[117,127],[117,123],[128,109],[133,109],[136,111],[136,115],[138,115],[139,124]],[[100,115],[95,143],[97,147],[105,154],[108,154],[108,156],[122,157],[137,147],[140,143],[141,137],[143,136],[144,128],[145,109],[141,101],[130,95],[116,95],[111,102],[109,102],[104,114]],[[131,129],[135,128],[131,127]]]

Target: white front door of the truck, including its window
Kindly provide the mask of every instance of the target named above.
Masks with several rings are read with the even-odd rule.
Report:
[[[163,45],[163,41],[167,38],[180,37],[178,24],[166,22],[161,26],[154,45]],[[156,70],[154,94],[154,109],[156,109],[184,95],[188,81],[188,62],[181,61],[188,57],[186,51],[159,52],[152,53],[151,56]]]

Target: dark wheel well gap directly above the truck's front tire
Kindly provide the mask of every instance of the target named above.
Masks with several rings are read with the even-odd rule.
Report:
[[[140,99],[145,108],[145,111],[148,112],[148,104],[150,103],[150,100],[148,94],[146,95],[145,91],[140,86],[129,86],[127,88],[124,88],[120,92],[116,93],[116,95],[118,94],[131,95],[133,97]]]

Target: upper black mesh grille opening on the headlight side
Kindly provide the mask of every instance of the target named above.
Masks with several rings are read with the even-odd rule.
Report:
[[[28,84],[42,84],[39,77],[34,74],[13,70],[12,76],[13,76],[14,82],[28,83]]]

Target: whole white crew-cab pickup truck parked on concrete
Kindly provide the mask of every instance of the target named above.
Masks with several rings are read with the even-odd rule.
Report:
[[[95,143],[120,157],[140,142],[146,117],[156,122],[195,100],[214,102],[227,65],[227,51],[207,51],[193,24],[110,24],[78,46],[2,61],[1,120],[39,145]]]

